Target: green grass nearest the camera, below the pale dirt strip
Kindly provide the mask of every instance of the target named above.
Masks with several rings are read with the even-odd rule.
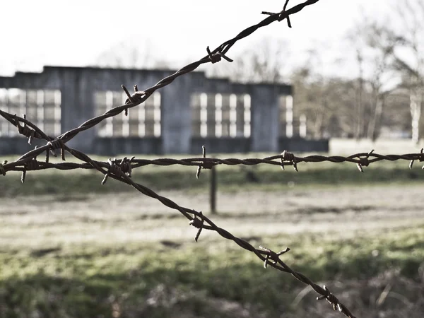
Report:
[[[418,281],[423,241],[421,226],[354,240],[305,234],[250,242],[273,249],[288,246],[290,252],[282,257],[286,264],[313,281],[331,282],[367,280],[389,269]],[[1,247],[0,266],[0,317],[10,318],[37,312],[41,317],[178,317],[177,312],[232,317],[211,299],[254,304],[255,310],[279,317],[281,306],[293,310],[295,290],[303,287],[287,273],[264,269],[254,254],[220,237],[172,246]]]

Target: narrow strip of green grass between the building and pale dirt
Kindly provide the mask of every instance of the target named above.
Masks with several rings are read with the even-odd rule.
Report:
[[[235,158],[261,158],[264,154],[233,155]],[[228,155],[216,155],[217,158],[228,158]],[[139,155],[137,158],[153,158]],[[182,158],[179,156],[178,158]],[[1,158],[8,159],[11,158]],[[107,160],[106,158],[97,158]],[[281,191],[293,187],[341,187],[344,185],[383,185],[383,184],[421,184],[424,171],[416,163],[412,170],[408,162],[379,162],[364,167],[360,173],[353,163],[300,163],[299,172],[292,167],[281,171],[278,166],[225,166],[216,167],[218,188],[226,192],[240,189]],[[133,179],[151,189],[179,189],[190,192],[205,191],[209,187],[210,172],[203,170],[196,179],[196,167],[172,165],[160,167],[148,165],[133,172]],[[28,172],[25,184],[20,183],[20,173],[8,172],[0,179],[0,196],[20,196],[39,194],[60,194],[70,196],[88,193],[102,194],[124,192],[127,187],[119,182],[107,182],[100,185],[103,176],[95,170],[45,170]]]

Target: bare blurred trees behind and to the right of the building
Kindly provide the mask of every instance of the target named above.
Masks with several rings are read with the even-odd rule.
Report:
[[[323,71],[323,53],[317,47],[307,52],[300,66],[290,68],[295,55],[290,45],[270,38],[245,49],[233,63],[214,66],[211,75],[292,84],[294,116],[306,117],[309,138],[375,140],[384,136],[418,143],[424,131],[424,1],[394,0],[384,5],[384,15],[358,20],[343,40],[348,48],[334,64],[354,65],[351,76]],[[123,45],[102,54],[98,64],[169,67],[167,61],[155,61],[151,51]]]

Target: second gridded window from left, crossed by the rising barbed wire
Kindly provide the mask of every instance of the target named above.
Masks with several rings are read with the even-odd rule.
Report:
[[[104,114],[112,107],[124,105],[125,93],[120,91],[98,91],[95,93],[95,116]],[[153,93],[142,104],[125,113],[105,119],[98,124],[97,134],[100,137],[120,136],[160,136],[160,93]]]

